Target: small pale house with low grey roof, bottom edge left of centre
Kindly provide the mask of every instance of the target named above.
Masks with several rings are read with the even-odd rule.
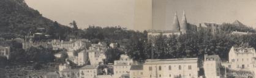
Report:
[[[80,78],[97,78],[99,65],[86,65],[79,69]]]

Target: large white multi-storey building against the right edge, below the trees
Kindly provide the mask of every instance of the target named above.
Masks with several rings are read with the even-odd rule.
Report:
[[[228,63],[224,66],[235,70],[250,70],[256,68],[255,49],[232,46],[228,54]]]

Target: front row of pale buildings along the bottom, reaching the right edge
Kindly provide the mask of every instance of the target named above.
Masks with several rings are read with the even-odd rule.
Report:
[[[219,78],[225,77],[225,71],[221,69],[232,69],[236,71],[249,71],[255,73],[256,55],[254,48],[236,47],[230,49],[228,62],[222,62],[219,55],[205,54],[202,65],[198,58],[188,59],[148,59],[145,63],[138,63],[127,55],[121,55],[115,60],[113,73],[110,67],[100,68],[99,64],[86,65],[78,69],[64,64],[59,66],[60,77],[78,78]],[[90,60],[91,61],[91,60]],[[201,75],[203,69],[203,75]],[[100,74],[104,71],[106,74]]]

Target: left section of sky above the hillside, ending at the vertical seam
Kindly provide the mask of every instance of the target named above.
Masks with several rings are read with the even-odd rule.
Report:
[[[43,16],[69,25],[73,20],[78,28],[89,25],[122,26],[133,29],[134,0],[25,0],[29,7]]]

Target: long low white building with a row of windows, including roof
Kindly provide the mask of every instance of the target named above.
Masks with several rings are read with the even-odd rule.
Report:
[[[143,64],[143,78],[196,78],[198,77],[198,59],[154,59]]]

